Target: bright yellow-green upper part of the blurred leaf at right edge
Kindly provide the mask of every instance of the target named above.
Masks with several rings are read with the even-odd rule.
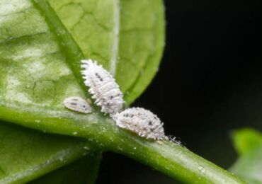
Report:
[[[246,154],[262,144],[261,133],[250,128],[234,131],[232,138],[234,147],[239,155]]]

